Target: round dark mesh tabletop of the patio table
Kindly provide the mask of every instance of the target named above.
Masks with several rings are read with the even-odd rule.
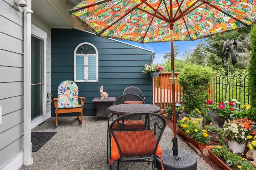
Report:
[[[160,112],[160,107],[150,104],[121,104],[108,107],[108,111],[115,115],[125,115],[135,112]]]

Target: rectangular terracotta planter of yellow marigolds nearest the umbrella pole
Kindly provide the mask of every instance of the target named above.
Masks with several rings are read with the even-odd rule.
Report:
[[[202,150],[210,143],[210,136],[206,130],[202,130],[197,121],[191,121],[188,117],[178,121],[178,132],[190,141],[196,148]]]

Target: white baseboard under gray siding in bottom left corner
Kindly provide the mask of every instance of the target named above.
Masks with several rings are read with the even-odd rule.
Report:
[[[0,170],[18,170],[24,161],[24,149],[20,150],[16,155],[14,155],[10,160],[0,167]]]

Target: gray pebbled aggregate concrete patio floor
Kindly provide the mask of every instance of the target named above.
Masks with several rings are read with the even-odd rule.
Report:
[[[58,127],[51,117],[33,132],[57,131],[37,152],[32,152],[34,164],[22,166],[20,170],[108,170],[106,164],[106,118],[84,117],[80,125],[75,117],[59,117]],[[162,149],[170,148],[173,131],[166,127],[160,141]],[[185,142],[178,138],[178,148],[196,155],[198,170],[212,168]],[[147,162],[120,163],[120,170],[152,170]]]

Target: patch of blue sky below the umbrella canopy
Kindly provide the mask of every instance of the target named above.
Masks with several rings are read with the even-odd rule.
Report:
[[[178,49],[180,50],[180,54],[182,53],[189,47],[190,49],[194,49],[198,43],[200,43],[201,40],[196,40],[196,41],[182,41],[182,42],[174,42],[175,45],[180,45]],[[164,53],[170,52],[170,42],[166,43],[136,43],[136,42],[129,42],[129,41],[123,41],[126,43],[130,43],[132,45],[136,45],[138,47],[150,49],[152,51],[156,52],[156,58],[154,59],[154,63],[162,63],[164,61],[163,56]],[[181,56],[178,57],[181,59]]]

